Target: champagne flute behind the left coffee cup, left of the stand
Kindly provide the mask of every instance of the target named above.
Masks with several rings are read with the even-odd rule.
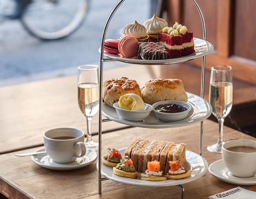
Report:
[[[92,117],[99,111],[99,73],[97,65],[81,65],[78,67],[78,104],[87,120],[85,146],[95,151],[99,143],[92,140]]]

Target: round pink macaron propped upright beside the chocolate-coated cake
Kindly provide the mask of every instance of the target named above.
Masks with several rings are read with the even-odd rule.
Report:
[[[125,36],[118,44],[118,51],[121,55],[131,58],[138,55],[139,42],[135,37]]]

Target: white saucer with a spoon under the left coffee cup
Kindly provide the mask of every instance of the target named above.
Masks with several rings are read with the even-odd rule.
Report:
[[[45,151],[45,149],[42,148],[41,150],[38,150],[38,152],[39,151]],[[90,148],[86,148],[86,154],[83,157],[78,157],[76,161],[67,163],[67,164],[53,162],[51,157],[46,153],[32,155],[31,159],[35,164],[41,167],[44,167],[46,169],[73,170],[73,169],[79,169],[79,168],[85,167],[86,165],[93,163],[97,159],[97,157],[98,157],[97,152],[91,150]]]

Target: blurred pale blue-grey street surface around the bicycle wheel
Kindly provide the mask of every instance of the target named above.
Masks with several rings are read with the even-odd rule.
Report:
[[[54,3],[52,0],[35,0],[30,3],[23,20],[29,28],[45,31],[68,26],[79,9],[87,6],[81,27],[59,40],[37,39],[29,35],[20,19],[4,18],[4,12],[11,15],[17,2],[22,1],[0,0],[0,86],[67,76],[76,74],[78,65],[99,64],[103,27],[117,1],[61,0]],[[119,38],[125,24],[133,23],[135,19],[143,23],[149,13],[148,0],[124,2],[110,23],[107,38]]]

